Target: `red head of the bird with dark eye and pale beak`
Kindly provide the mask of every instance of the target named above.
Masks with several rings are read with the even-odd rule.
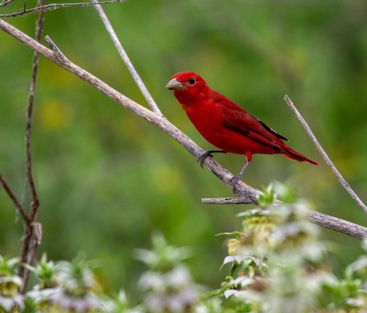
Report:
[[[194,100],[200,100],[207,94],[207,83],[193,72],[174,74],[166,85],[173,91],[179,103],[189,105]]]

